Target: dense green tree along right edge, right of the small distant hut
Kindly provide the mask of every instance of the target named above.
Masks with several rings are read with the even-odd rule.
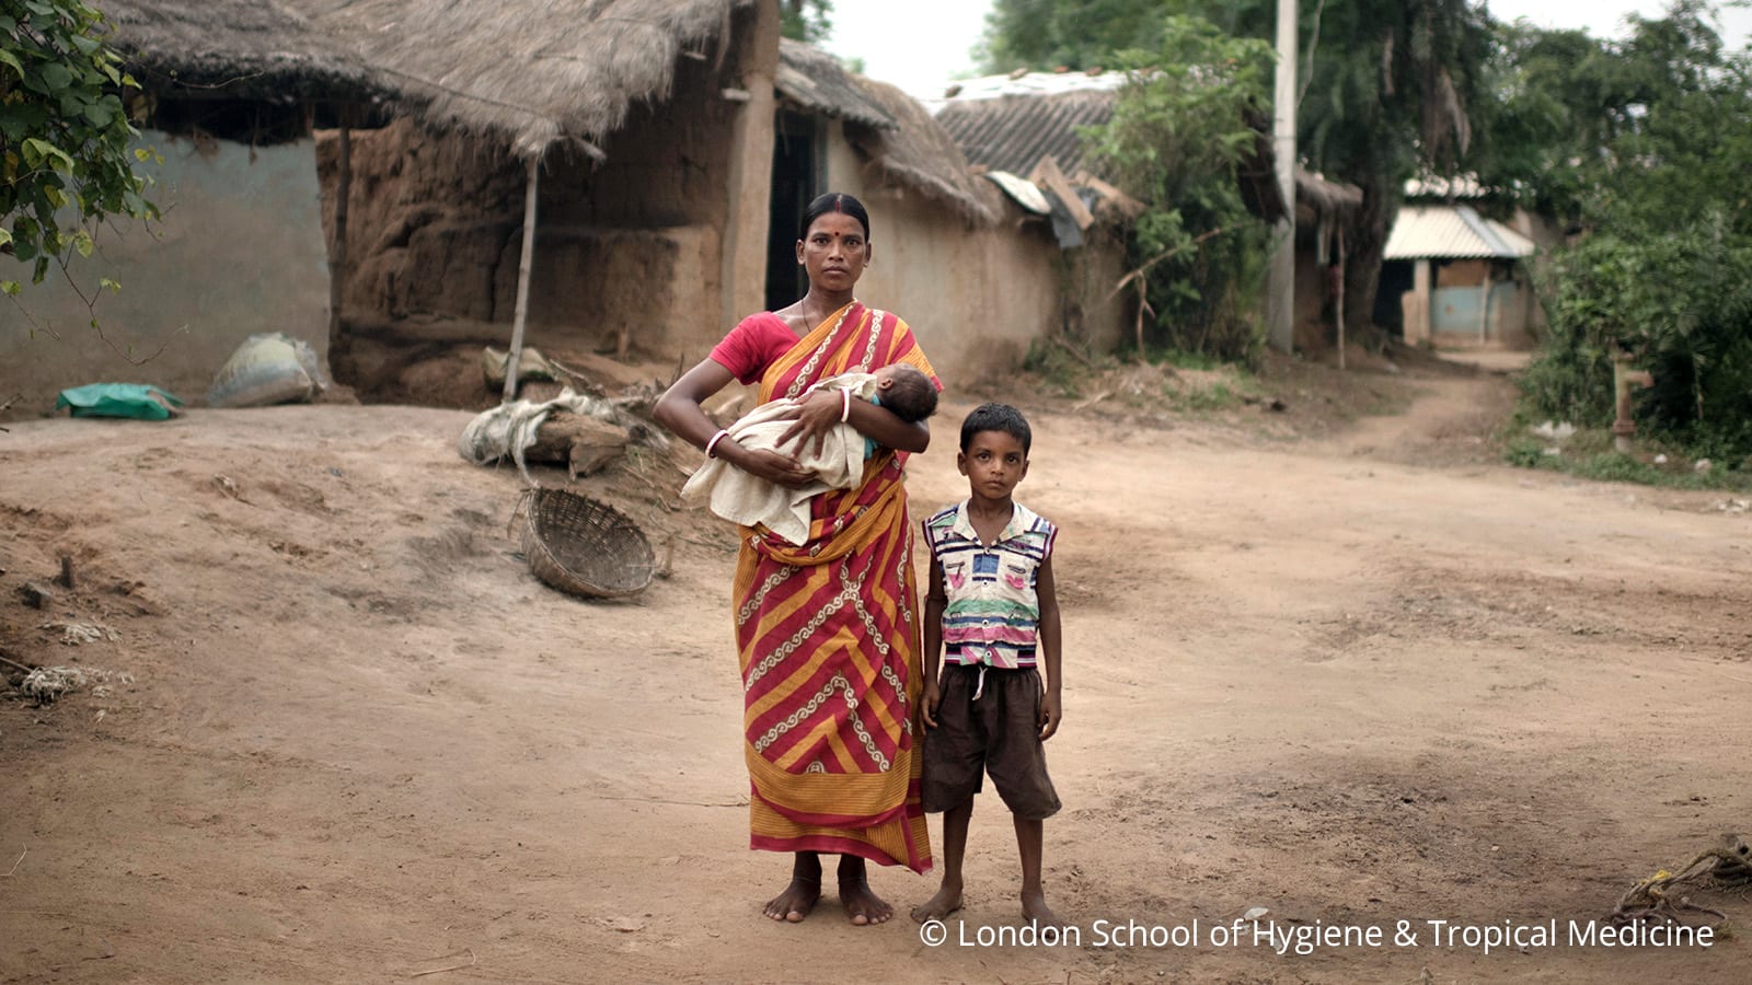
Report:
[[[1612,356],[1652,372],[1636,419],[1699,454],[1752,454],[1752,56],[1706,4],[1622,42],[1514,28],[1491,177],[1575,233],[1538,280],[1549,333],[1522,386],[1542,415],[1614,419]],[[1503,137],[1507,135],[1507,137]],[[1526,144],[1517,145],[1515,137]]]

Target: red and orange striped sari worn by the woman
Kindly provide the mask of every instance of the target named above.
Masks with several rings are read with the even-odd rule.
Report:
[[[851,301],[767,368],[760,401],[890,363],[936,379],[904,321]],[[902,464],[880,449],[857,487],[816,496],[802,545],[743,528],[732,594],[753,848],[930,868]]]

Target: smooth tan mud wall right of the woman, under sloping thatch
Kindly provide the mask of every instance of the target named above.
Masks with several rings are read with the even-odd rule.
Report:
[[[918,193],[872,188],[837,126],[827,147],[827,188],[857,195],[871,212],[876,259],[858,282],[858,300],[899,312],[946,386],[1018,368],[1032,344],[1062,331],[1067,300],[1074,331],[1091,347],[1118,342],[1125,301],[1100,289],[1118,279],[1111,251],[1065,254],[1042,224],[1018,228],[1021,210],[999,195],[992,203],[1004,219],[971,230]]]

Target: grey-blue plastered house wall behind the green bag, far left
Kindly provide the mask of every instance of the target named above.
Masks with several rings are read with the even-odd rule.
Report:
[[[98,298],[103,337],[58,272],[26,284],[19,298],[35,328],[11,303],[0,305],[0,403],[23,396],[9,412],[14,419],[47,412],[61,389],[93,382],[156,384],[201,403],[238,344],[263,331],[303,338],[328,358],[328,251],[314,144],[247,147],[151,130],[140,144],[165,158],[163,167],[142,168],[158,182],[147,198],[163,221],[105,223],[96,230],[98,252],[70,268]],[[0,258],[0,277],[28,280],[28,273]],[[121,291],[98,294],[103,277]]]

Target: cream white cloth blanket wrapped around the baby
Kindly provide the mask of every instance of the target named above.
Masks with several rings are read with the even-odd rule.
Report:
[[[876,396],[874,373],[841,373],[827,377],[804,393],[804,398],[816,389],[851,391],[851,396],[871,400]],[[795,410],[802,401],[780,398],[745,414],[731,424],[725,442],[738,442],[748,449],[766,449],[792,456],[797,464],[815,470],[815,480],[802,489],[785,489],[776,482],[757,478],[725,463],[724,459],[706,459],[687,485],[682,487],[682,500],[692,505],[708,501],[711,512],[743,526],[764,524],[769,531],[790,543],[802,543],[809,538],[809,500],[829,489],[850,489],[864,475],[864,435],[851,424],[839,424],[827,433],[822,442],[822,454],[816,456],[815,442],[804,442],[804,449],[780,449],[778,436],[794,424],[783,414]]]

